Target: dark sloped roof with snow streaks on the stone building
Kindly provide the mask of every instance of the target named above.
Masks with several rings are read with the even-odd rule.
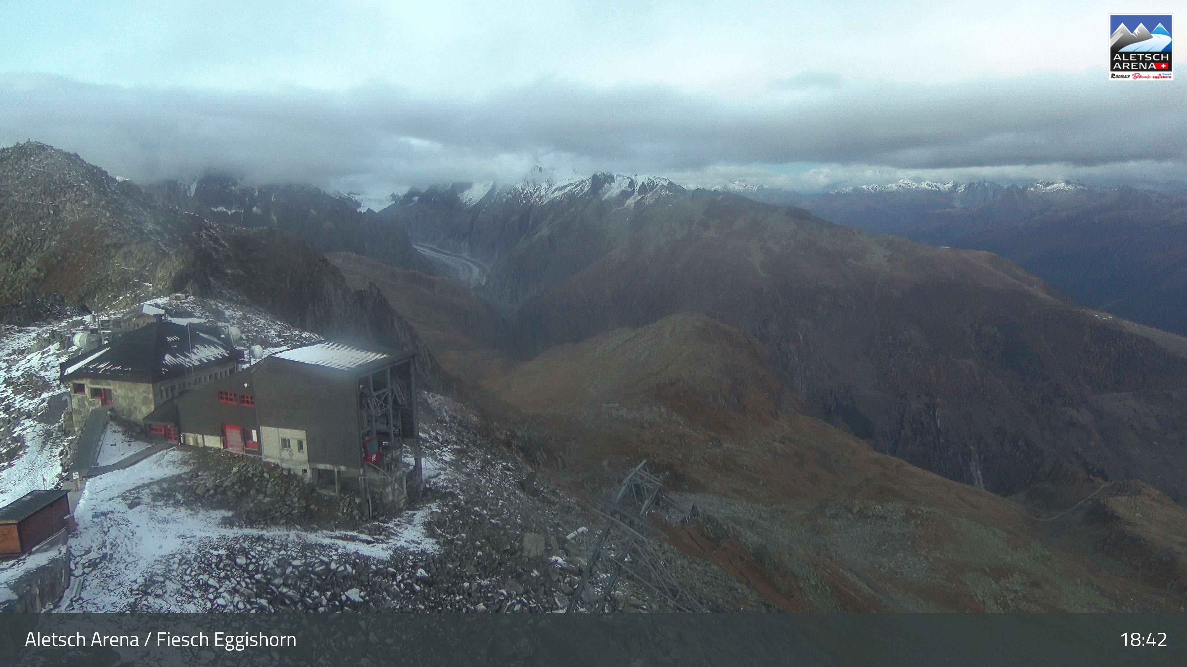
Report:
[[[129,331],[112,343],[66,360],[61,379],[112,377],[155,382],[212,363],[239,358],[240,352],[221,339],[217,330],[154,322]]]

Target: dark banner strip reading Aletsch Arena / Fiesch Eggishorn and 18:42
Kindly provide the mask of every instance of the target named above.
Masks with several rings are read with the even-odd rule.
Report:
[[[4,615],[0,663],[1187,665],[1187,615]]]

